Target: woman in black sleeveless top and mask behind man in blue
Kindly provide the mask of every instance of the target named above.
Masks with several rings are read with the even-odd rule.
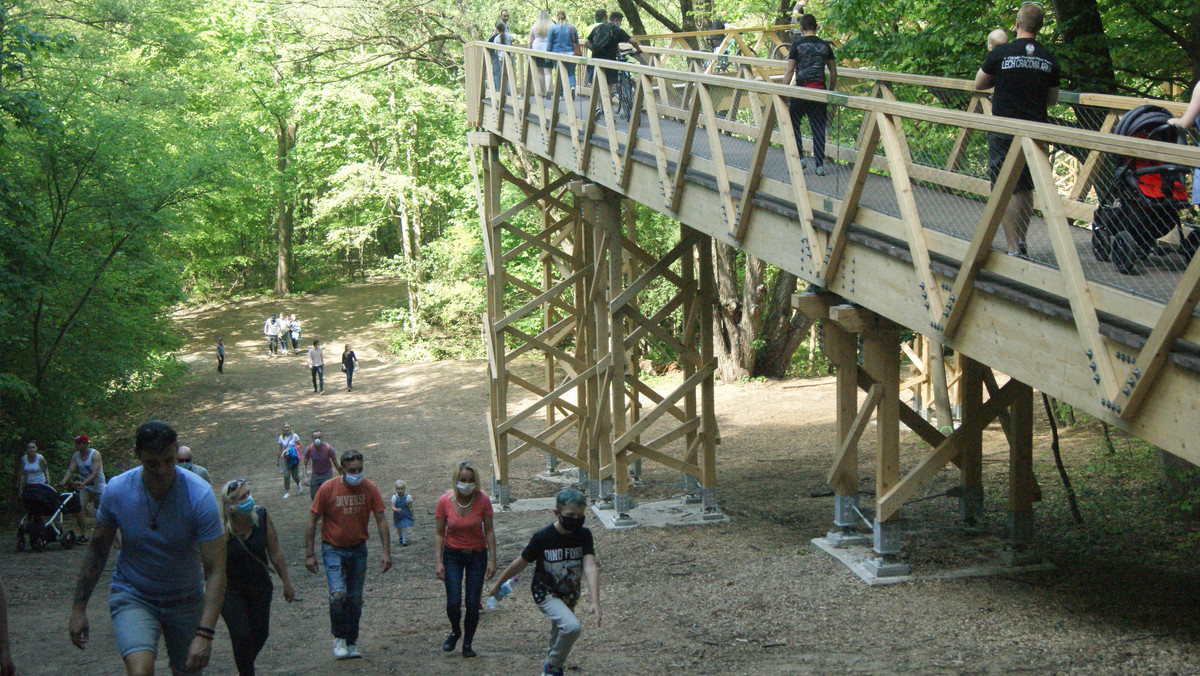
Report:
[[[292,603],[296,592],[288,578],[288,564],[275,534],[275,524],[265,507],[256,507],[246,479],[234,479],[221,491],[221,513],[229,544],[226,548],[226,587],[221,617],[229,628],[233,659],[240,676],[253,676],[254,659],[266,644],[271,628],[271,584],[268,558],[283,582],[283,599]]]

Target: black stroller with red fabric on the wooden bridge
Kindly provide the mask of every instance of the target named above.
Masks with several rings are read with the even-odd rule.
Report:
[[[1178,130],[1166,120],[1171,113],[1158,106],[1139,106],[1121,116],[1112,133],[1165,143],[1178,142]],[[1190,167],[1153,160],[1110,155],[1112,183],[1099,190],[1100,204],[1092,220],[1092,253],[1111,261],[1123,275],[1138,274],[1138,262],[1147,255],[1170,251],[1158,238],[1180,231],[1180,252],[1187,261],[1200,244],[1200,233],[1184,234],[1180,211],[1190,209],[1184,181]]]

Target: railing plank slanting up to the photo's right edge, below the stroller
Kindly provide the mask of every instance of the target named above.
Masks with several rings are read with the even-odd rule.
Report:
[[[1129,371],[1129,378],[1117,395],[1117,412],[1126,420],[1132,419],[1146,402],[1146,397],[1154,387],[1158,375],[1166,364],[1171,346],[1183,333],[1183,328],[1192,322],[1192,312],[1200,303],[1200,256],[1193,256],[1187,270],[1175,286],[1171,299],[1163,309],[1163,316],[1154,324],[1154,330],[1150,333],[1146,345],[1141,346],[1141,352]]]

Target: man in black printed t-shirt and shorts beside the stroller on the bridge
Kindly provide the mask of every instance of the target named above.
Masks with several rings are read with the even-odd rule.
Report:
[[[976,89],[995,86],[991,94],[991,113],[1001,118],[1015,118],[1046,122],[1046,108],[1058,100],[1061,72],[1054,55],[1037,42],[1038,31],[1045,19],[1040,4],[1026,2],[1016,13],[1016,40],[1001,44],[984,60],[976,73]],[[1004,157],[1013,137],[988,133],[988,175],[992,185],[1004,164]],[[1016,190],[1004,210],[1004,239],[1010,256],[1026,256],[1028,247],[1025,235],[1033,215],[1033,179],[1026,168],[1016,181]]]

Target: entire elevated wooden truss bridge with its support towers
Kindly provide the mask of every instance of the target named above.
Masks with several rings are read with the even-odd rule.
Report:
[[[991,116],[986,95],[964,80],[839,68],[838,91],[786,86],[776,82],[784,64],[761,58],[786,40],[776,31],[726,31],[721,54],[692,48],[706,41],[689,38],[707,34],[666,36],[668,46],[644,49],[644,64],[604,61],[620,73],[616,86],[604,77],[584,85],[594,60],[468,47],[500,501],[514,460],[538,451],[548,468],[577,467],[592,498],[618,513],[643,461],[679,471],[718,512],[713,240],[812,289],[793,303],[822,322],[838,366],[832,536],[853,538],[862,522],[858,447],[874,417],[881,570],[899,552],[901,505],[948,463],[961,474],[964,518],[980,513],[982,435],[996,419],[1012,449],[1012,533],[1018,549],[1027,544],[1033,388],[1200,463],[1200,257],[1164,249],[1129,276],[1096,261],[1090,245],[1108,158],[1190,173],[1200,151],[1110,133],[1145,103],[1133,98],[1063,92],[1052,114],[1064,124],[1048,125]],[[725,53],[730,44],[739,53]],[[534,55],[552,62],[548,86]],[[622,114],[623,96],[631,114]],[[811,139],[793,134],[793,97],[829,104],[826,175],[805,172]],[[989,132],[1015,138],[995,187]],[[1036,215],[1028,255],[1016,257],[994,240],[1025,168]],[[640,209],[679,222],[665,255],[640,239]],[[530,252],[536,269],[518,264]],[[668,299],[653,313],[638,303],[652,287]],[[953,432],[901,401],[910,331],[926,354],[953,351]],[[668,394],[642,381],[646,341],[678,353],[684,377]],[[540,366],[517,363],[523,355]],[[930,445],[905,472],[901,424]]]

